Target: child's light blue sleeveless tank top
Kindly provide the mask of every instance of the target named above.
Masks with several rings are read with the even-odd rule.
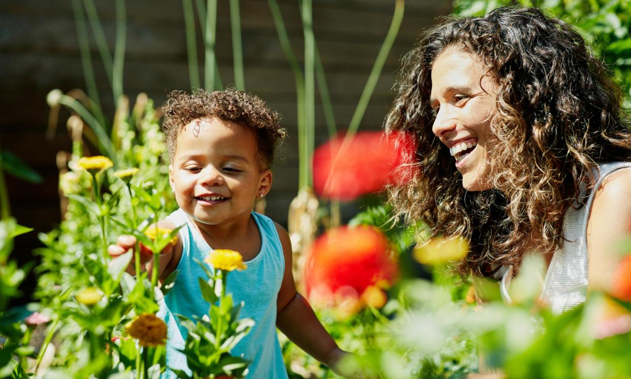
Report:
[[[231,354],[251,361],[246,379],[285,379],[287,371],[276,334],[276,298],[285,273],[285,257],[274,222],[256,212],[252,212],[252,218],[261,234],[261,251],[245,262],[245,270],[228,275],[226,291],[232,293],[235,304],[245,303],[240,317],[252,318],[256,323]],[[175,315],[192,319],[192,315],[201,317],[208,313],[208,303],[201,296],[198,280],[208,277],[193,258],[203,261],[212,249],[184,211],[176,210],[167,219],[176,226],[185,226],[179,232],[182,239],[182,256],[176,268],[179,275],[161,302],[158,317],[167,323],[167,367],[185,370],[190,375],[186,356],[177,351],[184,349],[188,331]],[[167,379],[175,377],[171,370],[162,375]]]

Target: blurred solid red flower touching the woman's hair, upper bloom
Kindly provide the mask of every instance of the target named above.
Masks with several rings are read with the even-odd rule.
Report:
[[[386,184],[403,184],[413,174],[415,142],[407,133],[385,135],[365,131],[346,146],[343,136],[314,152],[314,189],[317,195],[352,200],[380,191]]]

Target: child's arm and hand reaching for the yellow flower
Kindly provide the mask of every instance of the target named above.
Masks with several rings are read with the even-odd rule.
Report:
[[[163,227],[166,229],[175,229],[175,225],[173,222],[169,220],[162,220],[157,222],[158,227]],[[153,227],[151,225],[150,227]],[[179,237],[179,234],[178,234]],[[116,239],[115,245],[110,245],[107,248],[107,252],[112,258],[116,258],[122,253],[126,253],[129,249],[134,249],[136,247],[136,237],[130,235],[122,235]],[[167,279],[168,275],[175,271],[177,264],[180,262],[180,257],[182,256],[182,241],[180,238],[177,239],[175,246],[171,244],[167,244],[167,246],[160,254],[160,265],[158,267],[158,278],[160,282],[162,280]],[[141,253],[141,270],[146,270],[151,272],[153,269],[153,255],[144,255]],[[132,259],[129,262],[129,266],[127,266],[127,272],[129,274],[135,275],[135,260]]]

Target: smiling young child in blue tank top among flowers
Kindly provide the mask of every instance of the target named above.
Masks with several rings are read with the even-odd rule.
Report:
[[[230,274],[227,292],[235,303],[244,301],[240,316],[256,322],[232,351],[251,360],[247,378],[287,378],[276,327],[337,371],[336,363],[347,353],[296,291],[287,232],[252,212],[256,199],[271,188],[274,146],[285,137],[278,114],[256,95],[233,88],[191,95],[172,92],[163,111],[169,179],[179,209],[158,226],[185,225],[174,248],[160,257],[161,279],[179,271],[165,296],[167,309],[158,313],[168,327],[167,365],[187,370],[186,357],[177,351],[184,348],[187,330],[174,315],[208,311],[198,284],[206,275],[193,258],[203,260],[213,249],[231,249],[243,255],[247,269]],[[132,236],[121,236],[109,253],[120,255],[135,242]],[[168,370],[164,376],[175,375]]]

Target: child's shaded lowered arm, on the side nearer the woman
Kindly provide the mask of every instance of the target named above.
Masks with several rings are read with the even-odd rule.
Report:
[[[276,224],[276,230],[285,255],[285,275],[276,301],[276,326],[307,354],[338,373],[337,363],[348,353],[339,349],[307,300],[296,291],[292,272],[292,243],[283,227]]]

